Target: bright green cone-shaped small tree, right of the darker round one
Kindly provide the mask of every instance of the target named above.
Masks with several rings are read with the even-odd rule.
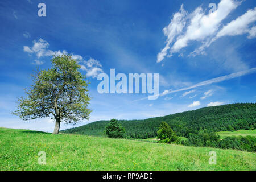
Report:
[[[158,130],[158,139],[160,143],[172,143],[178,140],[174,130],[168,125],[167,122],[162,122]]]

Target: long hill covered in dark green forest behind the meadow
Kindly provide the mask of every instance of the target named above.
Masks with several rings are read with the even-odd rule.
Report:
[[[162,121],[166,121],[179,136],[197,133],[198,130],[233,131],[256,129],[256,104],[229,104],[204,107],[183,113],[166,115],[144,120],[119,120],[125,127],[126,135],[131,138],[156,137],[156,131]],[[96,121],[88,125],[61,131],[61,133],[104,135],[109,121]]]

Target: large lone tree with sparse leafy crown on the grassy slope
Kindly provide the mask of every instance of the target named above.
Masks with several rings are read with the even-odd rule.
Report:
[[[25,90],[26,98],[19,98],[18,110],[13,114],[23,120],[50,117],[55,121],[53,134],[58,134],[60,122],[89,119],[89,82],[70,55],[54,56],[51,61],[51,69],[32,75],[33,84]]]

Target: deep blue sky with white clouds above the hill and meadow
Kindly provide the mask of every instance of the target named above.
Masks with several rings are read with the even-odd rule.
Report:
[[[38,4],[46,4],[46,17]],[[209,14],[210,3],[217,10]],[[89,121],[145,119],[201,107],[256,101],[256,3],[235,1],[1,1],[0,127],[53,131],[50,119],[11,114],[36,68],[51,54],[84,65]],[[99,94],[98,73],[159,73],[147,94]],[[61,129],[73,125],[61,125]]]

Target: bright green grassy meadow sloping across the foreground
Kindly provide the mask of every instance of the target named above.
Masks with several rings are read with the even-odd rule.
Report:
[[[256,154],[0,128],[1,170],[255,170]],[[217,164],[210,165],[209,151]],[[46,152],[46,165],[38,152]]]

